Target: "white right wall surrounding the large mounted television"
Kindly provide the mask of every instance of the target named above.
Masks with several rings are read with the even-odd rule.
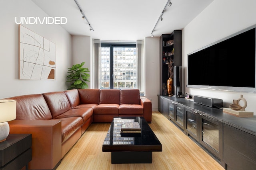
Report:
[[[255,9],[255,0],[214,0],[203,12],[184,27],[182,30],[182,67],[184,68],[183,82],[185,86],[188,53],[256,24]],[[235,67],[239,70],[239,61]],[[245,77],[238,77],[238,81],[244,80]],[[184,85],[183,87],[185,87]],[[233,99],[240,98],[240,94],[242,94],[248,102],[246,110],[254,111],[254,114],[256,114],[256,94],[253,93],[220,92],[186,87],[184,92],[189,92],[192,96],[200,95],[220,98],[223,100],[225,107],[232,104]],[[242,102],[240,104],[243,105]]]

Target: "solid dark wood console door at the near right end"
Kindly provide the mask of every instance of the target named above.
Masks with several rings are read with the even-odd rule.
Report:
[[[223,161],[226,170],[255,170],[256,136],[224,124]]]

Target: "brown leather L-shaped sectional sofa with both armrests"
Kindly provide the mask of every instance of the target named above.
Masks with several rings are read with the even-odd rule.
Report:
[[[56,169],[92,122],[114,116],[143,116],[151,123],[152,105],[137,89],[76,89],[30,94],[16,100],[10,133],[32,134],[29,169]]]

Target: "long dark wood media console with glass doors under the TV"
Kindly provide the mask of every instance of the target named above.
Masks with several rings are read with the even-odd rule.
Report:
[[[226,170],[255,169],[255,115],[236,117],[219,108],[160,95],[158,110]]]

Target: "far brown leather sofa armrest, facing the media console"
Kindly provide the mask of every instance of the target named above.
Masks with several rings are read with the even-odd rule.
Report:
[[[148,98],[140,97],[140,104],[143,107],[143,117],[148,123],[152,121],[152,103]]]

